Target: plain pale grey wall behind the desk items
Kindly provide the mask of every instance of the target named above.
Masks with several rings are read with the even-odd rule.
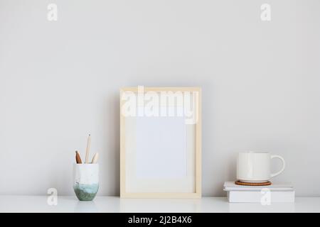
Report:
[[[73,194],[87,133],[100,195],[119,194],[118,91],[140,84],[203,88],[203,195],[252,149],[319,196],[319,40],[317,0],[0,0],[0,194]]]

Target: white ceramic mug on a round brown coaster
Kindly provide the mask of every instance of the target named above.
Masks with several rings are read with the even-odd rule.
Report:
[[[270,165],[273,158],[282,160],[282,169],[271,173]],[[283,157],[270,155],[267,152],[243,152],[238,154],[237,179],[241,182],[267,182],[270,178],[282,173],[285,167]]]

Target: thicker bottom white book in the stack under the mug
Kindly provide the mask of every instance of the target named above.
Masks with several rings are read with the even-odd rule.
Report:
[[[293,203],[294,190],[292,191],[228,191],[230,203]]]

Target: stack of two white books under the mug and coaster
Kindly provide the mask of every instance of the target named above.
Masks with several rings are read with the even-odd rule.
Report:
[[[230,203],[294,202],[294,187],[292,184],[242,186],[235,184],[235,182],[225,182],[223,191],[227,192]]]

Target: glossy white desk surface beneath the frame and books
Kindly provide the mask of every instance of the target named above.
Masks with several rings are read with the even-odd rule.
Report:
[[[50,206],[48,196],[0,196],[0,212],[320,212],[320,197],[296,197],[295,203],[230,204],[225,197],[202,199],[120,199],[97,196],[78,201],[75,196],[58,196]]]

